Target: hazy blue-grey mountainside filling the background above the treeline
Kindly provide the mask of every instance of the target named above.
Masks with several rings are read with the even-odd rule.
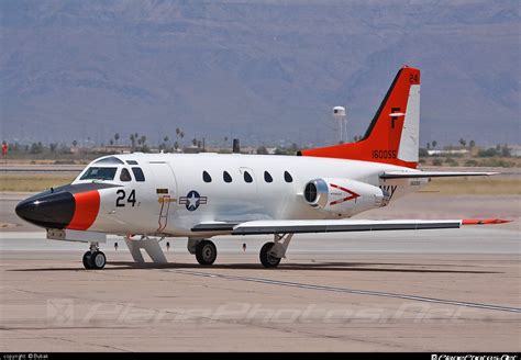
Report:
[[[8,140],[332,143],[422,70],[421,142],[520,143],[519,1],[0,1]]]

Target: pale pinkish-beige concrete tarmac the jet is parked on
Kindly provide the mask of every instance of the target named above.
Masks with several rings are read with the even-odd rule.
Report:
[[[408,196],[385,214],[516,222],[296,235],[269,270],[266,236],[215,238],[212,267],[186,239],[160,243],[168,265],[136,265],[110,236],[107,267],[90,271],[85,244],[11,215],[22,196],[0,194],[0,351],[521,350],[520,196]]]

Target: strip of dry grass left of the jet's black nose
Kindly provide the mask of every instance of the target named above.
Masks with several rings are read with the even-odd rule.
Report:
[[[2,192],[36,192],[51,187],[70,183],[75,175],[56,173],[1,173],[0,191]]]

